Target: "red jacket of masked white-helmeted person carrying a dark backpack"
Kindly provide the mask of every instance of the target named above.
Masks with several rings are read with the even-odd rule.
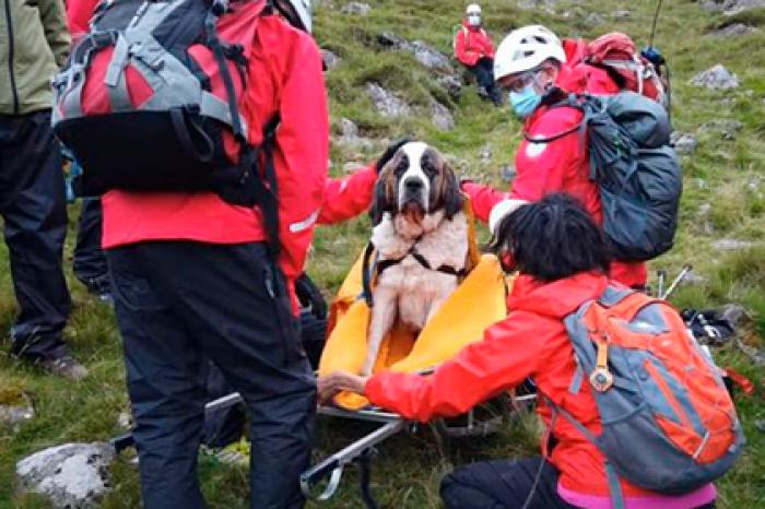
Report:
[[[567,67],[561,70],[558,85],[569,92],[596,92],[587,87],[580,72]],[[574,108],[542,106],[526,120],[523,129],[531,138],[549,138],[578,126],[580,121],[581,113]],[[473,182],[462,185],[478,218],[487,222],[492,208],[504,198],[537,201],[551,192],[567,192],[578,198],[599,224],[602,222],[598,185],[589,179],[587,147],[576,132],[549,143],[530,143],[523,139],[516,152],[516,171],[509,193]],[[644,285],[646,265],[614,261],[610,275],[627,286]]]

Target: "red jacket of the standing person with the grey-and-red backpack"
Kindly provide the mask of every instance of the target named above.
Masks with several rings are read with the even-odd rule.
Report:
[[[90,0],[85,0],[90,1]],[[323,201],[329,120],[321,56],[314,39],[278,16],[262,16],[249,63],[250,142],[262,138],[259,119],[280,114],[274,166],[279,180],[280,264],[299,275]],[[104,248],[144,240],[240,244],[266,238],[260,211],[235,206],[214,193],[110,191],[103,198]]]

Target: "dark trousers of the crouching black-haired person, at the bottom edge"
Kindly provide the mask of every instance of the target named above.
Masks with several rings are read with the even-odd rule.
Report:
[[[541,457],[483,461],[444,476],[440,496],[447,509],[521,509],[533,489],[528,509],[576,509],[558,496],[557,478],[555,466]],[[696,509],[715,509],[715,504]]]

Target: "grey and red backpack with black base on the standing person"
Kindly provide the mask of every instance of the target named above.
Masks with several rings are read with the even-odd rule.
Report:
[[[260,204],[269,223],[279,119],[258,119],[256,147],[245,117],[247,62],[268,13],[264,0],[102,1],[52,80],[52,127],[84,168],[83,194],[214,191]]]

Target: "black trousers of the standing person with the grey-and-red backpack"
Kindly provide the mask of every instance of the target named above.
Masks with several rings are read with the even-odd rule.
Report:
[[[207,507],[197,452],[208,359],[250,416],[250,507],[302,507],[316,386],[297,327],[278,318],[286,309],[264,245],[143,242],[107,260],[146,509]]]

